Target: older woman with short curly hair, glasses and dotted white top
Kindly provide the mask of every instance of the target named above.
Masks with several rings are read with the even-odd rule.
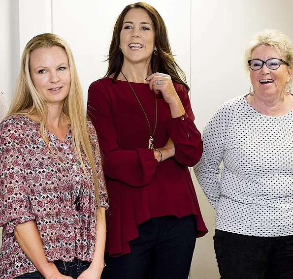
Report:
[[[221,279],[292,279],[293,44],[279,31],[262,31],[245,61],[250,91],[207,123],[195,175],[217,211]]]

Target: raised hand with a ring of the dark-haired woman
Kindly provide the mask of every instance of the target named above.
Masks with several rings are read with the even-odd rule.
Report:
[[[154,90],[157,94],[161,91],[163,98],[169,105],[178,101],[179,97],[169,75],[154,73],[148,76],[146,80],[150,82],[151,90]]]

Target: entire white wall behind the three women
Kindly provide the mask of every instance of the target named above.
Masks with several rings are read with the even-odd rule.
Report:
[[[165,20],[173,54],[191,86],[195,123],[201,131],[221,103],[248,92],[249,77],[241,59],[251,36],[273,28],[293,39],[292,0],[145,1]],[[10,99],[25,44],[34,35],[52,31],[72,48],[86,101],[91,82],[105,73],[107,64],[102,61],[115,19],[129,3],[0,0],[0,91]],[[191,278],[218,279],[212,243],[215,214],[195,178],[194,182],[210,232],[196,242]]]

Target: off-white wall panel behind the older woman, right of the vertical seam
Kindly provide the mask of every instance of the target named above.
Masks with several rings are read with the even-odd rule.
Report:
[[[248,93],[250,80],[242,57],[252,35],[269,28],[293,39],[293,1],[192,0],[191,14],[191,101],[202,131],[224,101]],[[193,178],[210,232],[197,240],[191,275],[218,279],[212,240],[215,211]]]

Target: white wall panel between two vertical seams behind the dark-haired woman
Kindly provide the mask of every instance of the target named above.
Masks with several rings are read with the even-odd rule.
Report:
[[[180,5],[177,0],[147,2],[163,16],[176,60],[190,81],[190,0],[181,0]],[[129,3],[129,0],[52,0],[52,31],[71,46],[85,98],[90,84],[106,72],[107,62],[103,61],[107,59],[114,24]]]

